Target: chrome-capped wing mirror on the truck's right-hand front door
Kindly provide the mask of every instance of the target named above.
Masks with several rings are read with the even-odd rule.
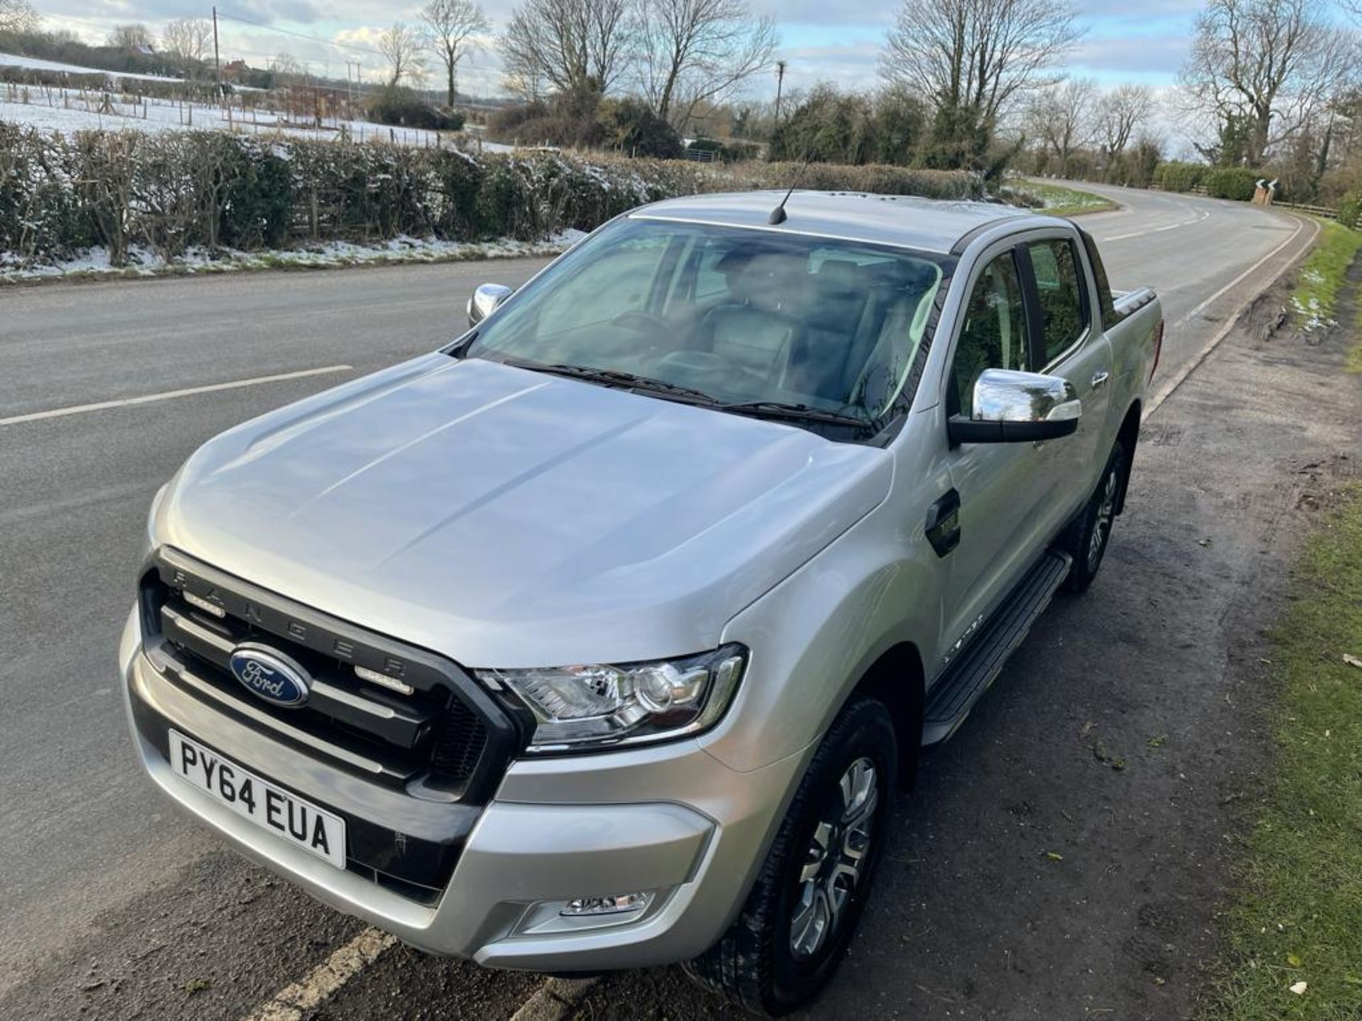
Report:
[[[970,417],[952,415],[947,429],[953,444],[1054,440],[1073,433],[1081,414],[1083,403],[1068,380],[985,369],[974,384]]]

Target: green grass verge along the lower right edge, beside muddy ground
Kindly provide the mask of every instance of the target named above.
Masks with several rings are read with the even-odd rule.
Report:
[[[1362,486],[1309,539],[1273,640],[1276,768],[1204,1017],[1362,1018]]]

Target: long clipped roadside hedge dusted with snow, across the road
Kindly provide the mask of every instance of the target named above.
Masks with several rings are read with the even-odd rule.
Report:
[[[170,259],[187,248],[296,242],[542,240],[591,230],[642,203],[696,192],[789,187],[790,163],[590,159],[481,154],[226,132],[60,135],[0,121],[0,264],[50,261],[102,245],[121,265],[133,245]],[[983,197],[962,172],[809,166],[801,187]]]

